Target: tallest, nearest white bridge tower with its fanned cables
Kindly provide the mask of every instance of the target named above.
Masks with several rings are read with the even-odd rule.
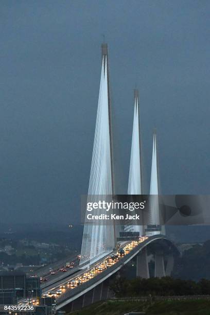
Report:
[[[96,201],[95,195],[102,195],[101,198],[104,199],[104,196],[113,194],[108,78],[108,55],[103,54],[88,202]],[[87,213],[89,212],[86,210]],[[94,215],[102,213],[101,209],[92,211]],[[93,223],[85,219],[80,265],[95,263],[115,247],[114,225],[108,220],[100,220],[100,224],[98,221],[97,224],[94,224],[93,220],[91,222]]]

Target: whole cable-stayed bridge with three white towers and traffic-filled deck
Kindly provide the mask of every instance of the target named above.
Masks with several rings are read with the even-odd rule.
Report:
[[[108,47],[107,44],[102,44],[100,89],[88,202],[93,202],[96,195],[109,199],[109,196],[115,193],[109,84]],[[144,194],[144,185],[139,96],[135,89],[128,195],[142,194]],[[151,244],[155,244],[153,276],[170,275],[173,256],[178,254],[178,250],[164,235],[164,227],[160,225],[159,203],[157,202],[159,170],[156,132],[153,134],[150,195],[152,198],[149,219],[145,225],[137,225],[135,220],[131,220],[129,225],[119,228],[119,226],[115,226],[114,220],[111,224],[110,222],[104,223],[104,221],[101,224],[98,221],[97,224],[91,224],[88,219],[85,219],[80,264],[73,271],[69,270],[42,284],[45,296],[54,295],[56,297],[57,309],[67,307],[68,310],[75,310],[109,298],[112,295],[109,290],[110,279],[134,257],[136,257],[136,275],[150,277],[147,247]],[[95,209],[95,215],[101,213],[101,209]],[[128,235],[134,232],[138,236],[121,239],[120,231]],[[164,253],[166,253],[165,257]]]

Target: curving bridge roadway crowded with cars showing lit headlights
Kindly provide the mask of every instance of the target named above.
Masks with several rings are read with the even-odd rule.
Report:
[[[79,259],[77,256],[72,256],[72,260],[65,259],[65,261],[68,261],[69,263],[72,261],[74,262],[74,267],[72,269],[66,268],[63,260],[62,263],[58,263],[57,265],[54,264],[53,270],[57,271],[54,275],[51,275],[49,271],[50,266],[48,266],[46,269],[48,271],[40,273],[47,276],[47,281],[41,284],[42,296],[43,298],[46,298],[47,296],[54,297],[57,303],[56,309],[60,309],[78,299],[86,292],[92,290],[94,287],[98,286],[107,278],[119,271],[133,257],[141,252],[144,247],[148,246],[149,243],[161,239],[164,239],[168,242],[169,246],[172,246],[175,251],[178,251],[176,246],[174,246],[174,244],[165,235],[159,234],[151,237],[140,237],[137,241],[133,240],[129,242],[121,242],[119,248],[115,252],[101,258],[101,260],[98,260],[91,267],[87,264],[79,266]],[[125,255],[119,254],[120,249],[124,249]],[[112,260],[111,258],[109,259],[112,255],[115,255],[115,260]],[[117,258],[116,255],[118,256]],[[108,263],[103,264],[106,260]],[[104,269],[101,271],[93,271],[96,267],[102,267]],[[67,271],[62,272],[59,270],[60,268],[65,268]],[[89,277],[89,279],[85,279],[83,276]]]

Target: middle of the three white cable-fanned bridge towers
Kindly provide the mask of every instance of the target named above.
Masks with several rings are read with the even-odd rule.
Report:
[[[133,115],[133,132],[131,144],[131,158],[128,181],[128,195],[143,194],[143,172],[142,172],[142,152],[141,136],[139,124],[139,103],[138,90],[134,90],[134,115]],[[143,235],[143,226],[137,225],[136,222],[130,221],[129,225],[124,227],[125,232],[139,232]]]

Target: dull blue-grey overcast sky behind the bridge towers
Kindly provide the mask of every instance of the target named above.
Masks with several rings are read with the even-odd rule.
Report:
[[[145,179],[156,127],[162,193],[209,193],[209,11],[207,0],[0,2],[2,222],[79,219],[80,195],[89,183],[103,33],[117,193],[128,185],[135,86]]]

